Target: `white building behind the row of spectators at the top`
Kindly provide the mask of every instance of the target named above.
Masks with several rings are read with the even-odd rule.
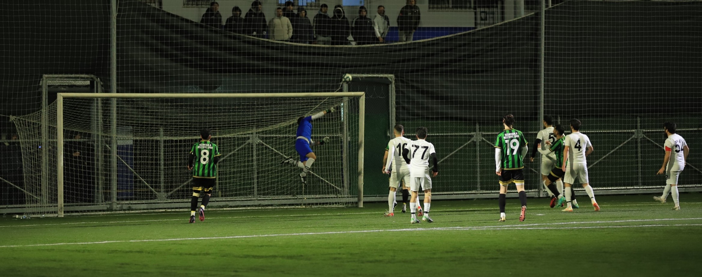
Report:
[[[154,0],[147,0],[154,1]],[[262,0],[263,13],[266,20],[270,20],[278,7],[280,1],[284,0]],[[309,1],[309,2],[307,2]],[[366,6],[369,17],[373,18],[377,14],[378,6],[385,7],[385,15],[390,17],[390,27],[397,27],[397,15],[399,10],[405,5],[406,0],[297,0],[299,3],[307,3],[307,17],[310,19],[317,14],[319,5],[326,3],[329,6],[327,14],[333,14],[333,7],[344,3],[344,11],[349,20],[353,20],[358,15],[359,6]],[[232,16],[232,8],[239,6],[243,13],[241,17],[251,8],[253,0],[219,0],[219,10],[222,14],[223,22],[227,17]],[[416,5],[420,8],[421,22],[419,27],[484,27],[495,24],[503,20],[511,20],[525,14],[524,0],[494,0],[498,6],[495,8],[475,8],[475,3],[487,3],[489,0],[416,0]],[[204,6],[197,6],[197,3],[204,3]],[[203,0],[161,0],[161,5],[168,13],[180,15],[187,19],[199,22],[202,15],[209,6],[210,1]],[[355,5],[355,6],[351,6]],[[477,18],[476,18],[477,15]]]

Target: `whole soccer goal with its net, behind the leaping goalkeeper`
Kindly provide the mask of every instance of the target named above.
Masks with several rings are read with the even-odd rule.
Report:
[[[312,148],[303,185],[280,162],[299,159],[298,118],[331,107],[312,122],[312,140],[329,141]],[[22,145],[23,212],[187,208],[187,158],[203,128],[221,152],[211,206],[362,206],[364,108],[364,92],[59,93],[46,120],[14,120],[22,136],[46,138]]]

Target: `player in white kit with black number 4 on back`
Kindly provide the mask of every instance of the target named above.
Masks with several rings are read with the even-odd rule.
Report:
[[[600,211],[600,205],[597,205],[597,201],[595,201],[595,192],[592,192],[592,187],[590,187],[588,160],[585,158],[592,154],[595,148],[592,147],[590,138],[580,132],[581,125],[582,122],[580,122],[580,120],[575,118],[571,119],[571,134],[566,136],[566,146],[563,150],[563,171],[565,172],[563,180],[566,186],[565,194],[568,204],[563,211],[573,211],[573,194],[570,187],[576,182],[583,184],[583,188],[585,188],[585,192],[588,193],[588,197],[590,197],[595,211]],[[570,159],[570,163],[567,163],[568,159]]]

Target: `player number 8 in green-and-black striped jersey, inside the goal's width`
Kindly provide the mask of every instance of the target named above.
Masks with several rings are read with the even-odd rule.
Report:
[[[217,163],[221,154],[219,147],[212,143],[211,139],[209,129],[200,130],[200,141],[192,145],[190,155],[187,158],[187,169],[192,170],[194,180],[192,199],[190,200],[190,223],[195,222],[196,211],[199,213],[200,221],[205,220],[205,207],[210,201],[217,178]],[[204,192],[202,204],[200,208],[197,208],[197,199],[202,192]]]

